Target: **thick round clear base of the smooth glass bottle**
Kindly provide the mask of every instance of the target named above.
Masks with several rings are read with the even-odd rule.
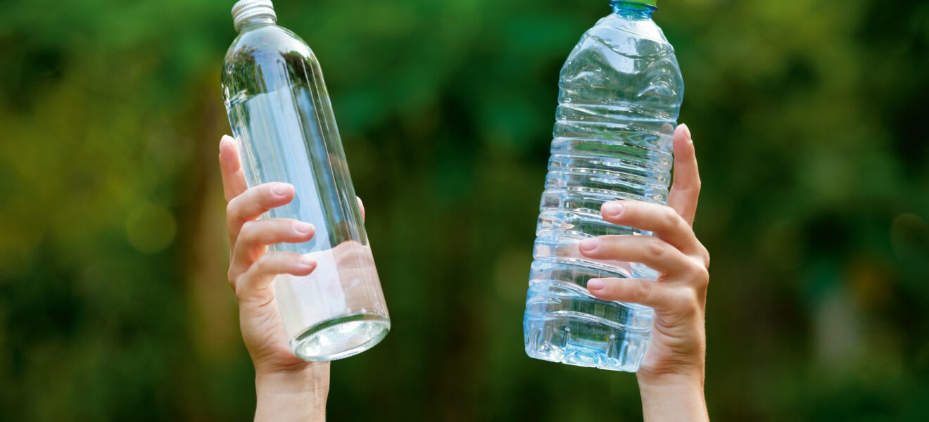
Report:
[[[290,341],[290,350],[308,362],[347,358],[373,348],[390,331],[390,320],[378,313],[354,313],[307,328]]]

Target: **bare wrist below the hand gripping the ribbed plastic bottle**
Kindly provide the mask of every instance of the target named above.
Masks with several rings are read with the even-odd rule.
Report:
[[[646,422],[709,421],[703,377],[639,377],[642,415]]]

